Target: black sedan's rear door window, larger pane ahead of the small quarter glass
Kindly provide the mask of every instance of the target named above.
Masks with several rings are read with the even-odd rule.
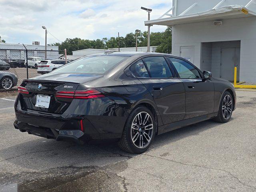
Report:
[[[173,78],[164,57],[147,57],[143,60],[146,63],[151,78]]]

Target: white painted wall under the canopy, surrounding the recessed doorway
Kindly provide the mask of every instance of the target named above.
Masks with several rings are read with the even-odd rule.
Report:
[[[241,40],[240,81],[256,82],[256,17],[223,20],[222,26],[199,22],[172,26],[172,54],[180,46],[194,46],[194,64],[200,67],[201,43]]]

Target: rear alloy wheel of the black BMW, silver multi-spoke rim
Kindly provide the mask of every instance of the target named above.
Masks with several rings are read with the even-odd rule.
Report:
[[[138,113],[132,121],[131,138],[133,144],[138,148],[148,146],[153,135],[153,121],[147,112]]]

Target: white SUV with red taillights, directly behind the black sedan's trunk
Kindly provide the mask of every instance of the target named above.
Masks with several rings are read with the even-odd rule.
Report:
[[[67,63],[69,63],[69,61],[67,61]],[[66,61],[60,60],[60,59],[43,60],[38,64],[37,72],[39,74],[49,73],[49,72],[53,71],[54,69],[57,69],[57,68],[63,66],[64,64],[66,64]]]

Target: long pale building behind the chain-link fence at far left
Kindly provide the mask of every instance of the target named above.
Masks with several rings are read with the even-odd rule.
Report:
[[[34,42],[33,42],[34,43]],[[37,44],[40,44],[37,42]],[[40,57],[44,59],[45,57],[45,46],[43,45],[25,45],[25,47],[28,49],[28,57]],[[26,49],[23,46],[23,44],[8,44],[8,43],[0,43],[0,58],[1,59],[26,59]],[[52,51],[58,51],[58,46],[47,46],[47,50]],[[58,59],[59,54],[58,52],[48,52],[47,51],[48,58],[51,59]]]

